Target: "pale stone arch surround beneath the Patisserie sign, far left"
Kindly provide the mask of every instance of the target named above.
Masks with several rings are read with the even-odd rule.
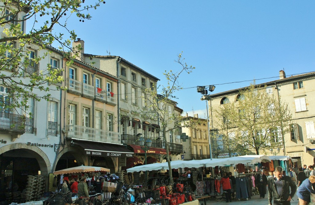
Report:
[[[35,159],[37,160],[39,167],[41,169],[41,175],[48,176],[48,174],[51,173],[51,165],[49,158],[40,148],[36,146],[28,146],[26,145],[26,143],[14,143],[0,148],[0,153],[3,154],[5,152],[8,152],[9,150],[14,149],[26,149],[30,151],[32,154],[34,154]]]

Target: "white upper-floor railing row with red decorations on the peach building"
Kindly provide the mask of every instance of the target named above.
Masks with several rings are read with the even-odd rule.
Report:
[[[67,86],[68,86],[68,92],[78,94],[78,95],[83,95],[91,99],[95,98],[96,100],[104,101],[104,102],[116,105],[116,101],[117,101],[116,95],[111,92],[107,92],[106,90],[102,90],[100,88],[82,83],[80,81],[77,81],[71,78],[67,78]]]

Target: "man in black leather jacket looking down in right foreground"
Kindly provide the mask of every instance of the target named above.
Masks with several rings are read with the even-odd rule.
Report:
[[[272,204],[273,198],[273,205],[290,205],[291,198],[296,192],[295,183],[291,177],[282,176],[281,166],[277,166],[273,174],[274,176],[268,179],[268,204]]]

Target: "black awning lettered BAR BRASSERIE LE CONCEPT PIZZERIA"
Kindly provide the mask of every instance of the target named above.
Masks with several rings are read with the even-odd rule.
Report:
[[[102,144],[96,142],[77,141],[76,144],[84,148],[87,155],[99,157],[133,157],[133,152],[125,146]]]

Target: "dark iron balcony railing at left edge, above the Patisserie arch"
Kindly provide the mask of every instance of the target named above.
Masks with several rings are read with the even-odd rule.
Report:
[[[0,130],[25,133],[25,117],[7,112],[0,112]]]

